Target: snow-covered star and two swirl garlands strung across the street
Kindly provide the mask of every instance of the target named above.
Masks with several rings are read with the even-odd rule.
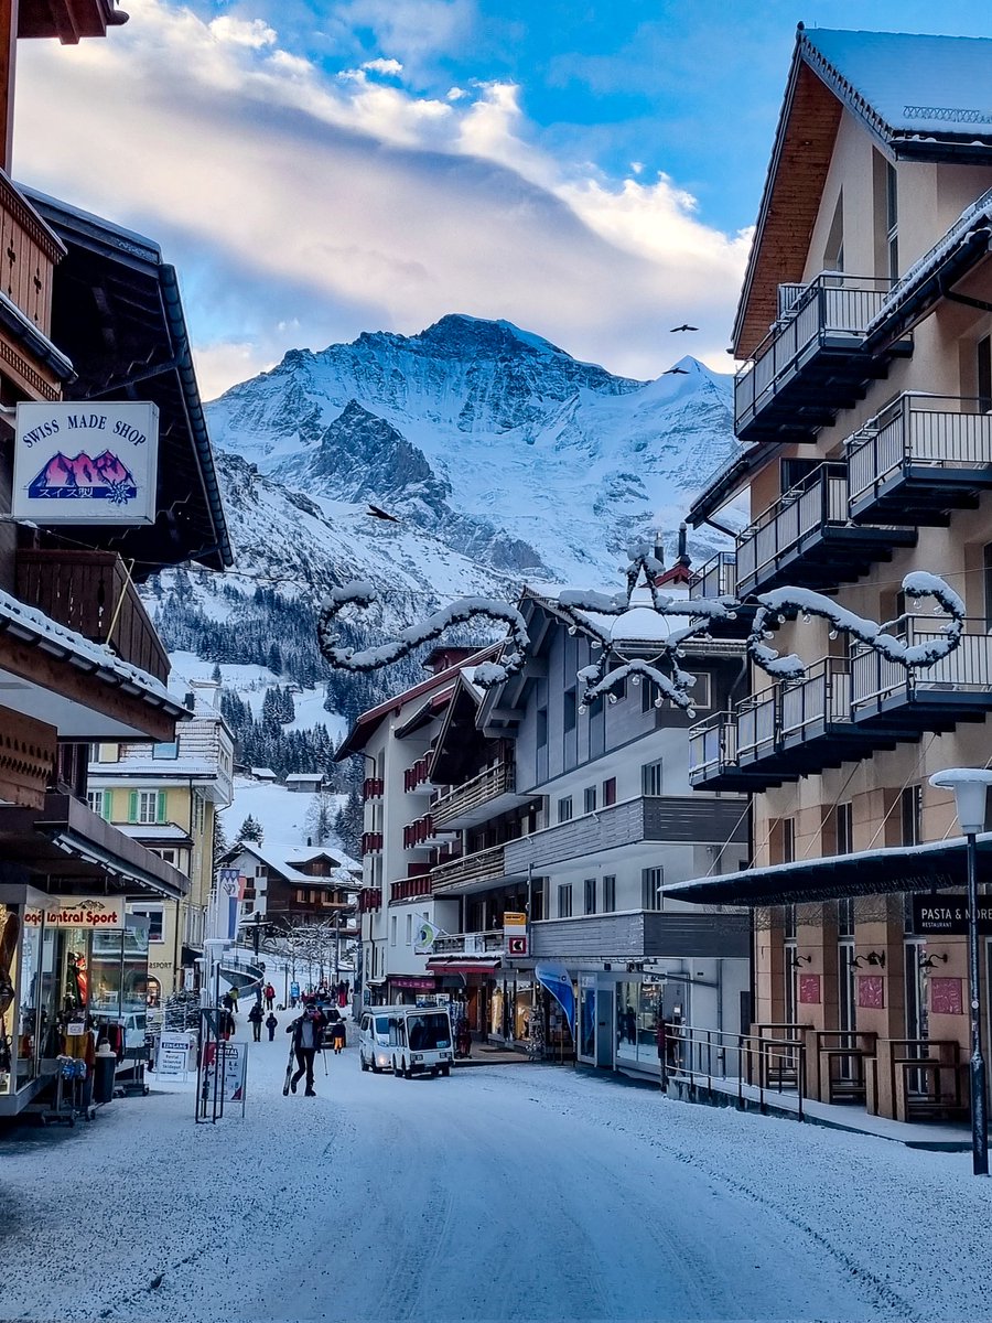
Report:
[[[679,664],[685,656],[685,643],[693,638],[706,638],[716,622],[734,619],[743,603],[734,597],[690,599],[669,597],[659,591],[655,582],[663,572],[661,562],[645,546],[639,546],[632,552],[627,566],[626,593],[610,595],[566,589],[558,594],[557,606],[569,620],[569,632],[583,634],[590,640],[590,648],[599,652],[598,660],[593,665],[583,667],[577,676],[583,685],[581,709],[589,708],[602,697],[616,703],[616,691],[631,680],[632,684],[647,681],[656,687],[656,706],[661,706],[668,699],[688,716],[696,714],[690,692],[696,676]],[[934,636],[925,643],[910,646],[895,634],[888,632],[899,626],[905,617],[880,624],[848,611],[821,593],[782,587],[755,598],[758,610],[747,638],[751,660],[772,679],[802,680],[806,675],[803,660],[795,654],[780,656],[774,648],[767,647],[766,640],[774,636],[774,626],[784,623],[787,617],[815,615],[828,620],[832,632],[844,631],[906,669],[932,665],[958,647],[964,630],[964,602],[942,578],[922,570],[907,574],[902,581],[902,589],[911,598],[932,597],[947,613],[944,622],[935,627]],[[640,591],[645,599],[635,601],[635,591]],[[516,607],[496,598],[467,597],[451,602],[419,624],[402,630],[394,643],[361,652],[339,648],[333,628],[341,609],[369,606],[374,601],[374,587],[366,582],[357,582],[335,589],[323,603],[317,626],[320,651],[333,668],[354,672],[377,671],[409,656],[421,644],[439,638],[450,626],[464,624],[475,618],[509,626],[509,638],[500,660],[475,669],[474,679],[480,688],[488,689],[501,684],[524,665],[529,643],[526,622]],[[677,617],[688,619],[688,623],[681,628],[673,628],[664,639],[632,636],[624,643],[614,638],[615,627],[604,628],[595,619],[595,617],[620,619],[634,610],[649,610],[659,617]],[[648,655],[628,656],[624,655],[624,647],[630,652]]]

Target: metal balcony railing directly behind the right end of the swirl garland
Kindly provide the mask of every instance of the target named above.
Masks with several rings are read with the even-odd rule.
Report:
[[[967,628],[967,626],[971,628]],[[907,620],[902,638],[917,647],[942,638],[932,620]],[[907,671],[870,648],[852,659],[852,708],[856,721],[918,721],[926,729],[950,729],[992,710],[992,635],[981,622],[966,622],[960,643],[930,667]]]

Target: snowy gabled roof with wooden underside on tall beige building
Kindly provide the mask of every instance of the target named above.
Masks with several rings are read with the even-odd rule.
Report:
[[[843,110],[891,160],[988,160],[992,40],[799,25],[733,332],[747,359],[799,283]]]

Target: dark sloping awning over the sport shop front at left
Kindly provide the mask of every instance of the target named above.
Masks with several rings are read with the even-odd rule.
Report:
[[[106,886],[180,900],[189,890],[185,873],[71,795],[45,795],[44,808],[0,807],[0,855],[63,896]]]

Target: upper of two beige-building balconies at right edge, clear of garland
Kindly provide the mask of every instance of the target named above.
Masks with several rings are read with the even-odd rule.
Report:
[[[992,402],[906,393],[848,439],[856,521],[943,525],[992,488]]]

